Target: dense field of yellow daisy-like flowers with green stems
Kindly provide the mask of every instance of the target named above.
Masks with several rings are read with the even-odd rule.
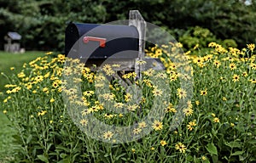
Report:
[[[140,80],[135,80],[135,72],[123,74],[141,93],[127,92],[118,80],[108,82],[119,65],[103,65],[96,73],[62,54],[46,53],[25,63],[13,76],[3,74],[9,84],[2,111],[17,131],[14,143],[19,145],[14,160],[256,161],[255,45],[243,49],[224,48],[215,42],[204,49],[196,46],[184,53],[183,61],[190,67],[169,59],[168,51],[175,46],[147,50],[148,56],[162,61],[165,73],[145,70]],[[192,84],[193,89],[181,83]],[[164,116],[142,121],[152,110],[158,110],[153,115]],[[130,135],[126,134],[135,140],[120,143],[117,132],[96,128],[91,116],[109,126],[136,123]],[[179,123],[174,128],[175,122]]]

